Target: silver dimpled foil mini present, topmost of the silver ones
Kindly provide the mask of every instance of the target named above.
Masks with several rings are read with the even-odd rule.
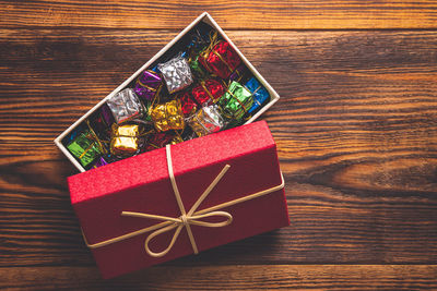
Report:
[[[181,54],[168,62],[158,63],[157,69],[163,74],[168,93],[170,94],[181,90],[192,83],[190,66]]]

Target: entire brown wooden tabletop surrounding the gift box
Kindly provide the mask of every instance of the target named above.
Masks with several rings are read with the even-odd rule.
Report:
[[[281,95],[292,225],[102,280],[52,140],[202,11]],[[437,2],[1,1],[0,289],[437,289]]]

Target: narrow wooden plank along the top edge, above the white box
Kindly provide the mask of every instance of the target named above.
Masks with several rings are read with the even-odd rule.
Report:
[[[203,11],[226,29],[436,28],[436,1],[1,1],[0,27],[181,29]]]

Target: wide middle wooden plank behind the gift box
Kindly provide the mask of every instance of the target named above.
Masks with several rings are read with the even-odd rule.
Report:
[[[0,266],[94,265],[52,140],[175,32],[0,31]],[[167,266],[435,264],[436,32],[229,32],[282,99],[290,228]]]

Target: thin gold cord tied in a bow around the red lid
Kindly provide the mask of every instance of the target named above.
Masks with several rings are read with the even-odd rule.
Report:
[[[113,239],[109,239],[109,240],[106,240],[106,241],[103,241],[99,243],[94,243],[94,244],[88,244],[84,233],[82,232],[83,239],[90,248],[102,247],[105,245],[109,245],[109,244],[113,244],[116,242],[120,242],[120,241],[123,241],[123,240],[127,240],[127,239],[130,239],[130,238],[133,238],[133,237],[137,237],[140,234],[153,231],[145,239],[144,248],[150,256],[162,257],[172,250],[177,238],[179,237],[180,231],[184,228],[186,228],[188,238],[191,243],[191,247],[192,247],[194,254],[198,254],[199,250],[196,244],[194,237],[192,234],[190,225],[208,227],[208,228],[221,228],[221,227],[228,226],[228,225],[231,225],[231,222],[233,220],[232,215],[227,211],[218,211],[220,209],[273,193],[273,192],[279,191],[284,187],[284,177],[281,174],[282,182],[280,185],[276,185],[276,186],[273,186],[273,187],[270,187],[270,189],[257,192],[257,193],[252,193],[250,195],[247,195],[247,196],[234,199],[234,201],[222,203],[222,204],[212,206],[210,208],[205,208],[205,209],[196,211],[198,209],[198,207],[200,206],[200,204],[206,198],[206,196],[211,193],[211,191],[215,187],[215,185],[220,182],[220,180],[225,175],[226,171],[231,168],[229,165],[226,165],[225,167],[223,167],[222,171],[215,177],[215,179],[211,182],[211,184],[206,187],[206,190],[202,193],[202,195],[200,195],[199,199],[194,203],[194,205],[190,208],[190,210],[188,213],[186,213],[184,204],[182,204],[182,199],[180,197],[179,189],[176,183],[175,174],[173,171],[170,145],[166,145],[165,149],[166,149],[168,174],[169,174],[172,187],[173,187],[173,191],[174,191],[174,194],[176,197],[176,202],[179,206],[179,210],[180,210],[181,215],[179,217],[167,217],[167,216],[158,216],[158,215],[151,215],[151,214],[144,214],[144,213],[122,211],[121,213],[122,216],[164,220],[164,222],[156,223],[151,227],[143,228],[143,229],[140,229],[140,230],[137,230],[133,232],[129,232],[127,234],[116,237],[116,238],[113,238]],[[202,218],[213,217],[213,216],[224,217],[226,220],[221,221],[221,222],[206,222],[206,221],[200,220]],[[174,229],[176,229],[176,230],[175,230],[175,233],[173,234],[172,241],[169,242],[168,246],[164,251],[155,253],[150,250],[149,243],[151,240],[153,240],[155,237],[157,237],[162,233],[168,232]]]

